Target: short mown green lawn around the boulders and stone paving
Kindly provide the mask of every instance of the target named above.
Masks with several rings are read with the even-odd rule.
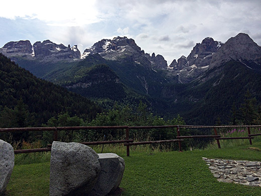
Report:
[[[261,195],[261,187],[218,182],[202,157],[261,161],[261,143],[184,152],[134,151],[126,157],[122,195]],[[107,150],[106,150],[107,151]],[[99,153],[99,152],[98,152]],[[49,195],[50,163],[16,164],[8,195]]]

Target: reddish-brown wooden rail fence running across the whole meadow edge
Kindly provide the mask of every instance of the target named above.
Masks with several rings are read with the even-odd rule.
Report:
[[[248,139],[250,145],[252,145],[253,136],[259,136],[261,133],[251,134],[250,128],[258,128],[261,125],[230,125],[230,126],[194,126],[194,125],[166,125],[166,126],[89,126],[89,127],[30,127],[30,128],[0,128],[0,133],[7,133],[7,132],[27,132],[27,131],[53,131],[54,138],[53,141],[57,141],[58,138],[58,131],[62,130],[104,130],[104,129],[125,129],[125,140],[113,140],[113,141],[93,141],[93,142],[82,142],[85,145],[100,145],[100,144],[117,144],[117,143],[124,143],[126,146],[126,155],[129,156],[129,146],[133,145],[144,145],[144,144],[159,144],[159,143],[171,143],[171,142],[178,142],[179,144],[179,151],[182,151],[181,142],[184,139],[188,138],[215,138],[217,140],[218,148],[221,148],[219,140],[228,140],[228,139]],[[142,141],[142,142],[134,142],[133,139],[129,139],[129,130],[130,129],[166,129],[166,128],[173,128],[177,130],[177,137],[173,140],[159,140],[159,141]],[[213,129],[214,135],[190,135],[190,136],[181,136],[180,129],[187,128],[187,129]],[[216,129],[221,128],[247,128],[248,137],[221,137],[221,135],[217,134]],[[25,150],[15,150],[16,154],[19,153],[31,153],[31,152],[45,152],[51,151],[52,145],[49,144],[47,148],[38,148],[38,149],[25,149]]]

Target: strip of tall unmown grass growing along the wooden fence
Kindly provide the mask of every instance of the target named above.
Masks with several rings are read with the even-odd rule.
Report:
[[[237,128],[237,129],[219,129],[217,130],[218,134],[221,135],[221,137],[248,137],[247,128]],[[261,133],[260,128],[251,128],[250,129],[251,134],[255,133]],[[123,133],[124,134],[124,133]],[[117,139],[125,139],[125,135],[121,135]],[[138,141],[151,141],[153,140],[151,134],[149,132],[138,132],[133,135],[135,142]],[[108,135],[106,137],[106,140],[113,140],[111,135]],[[104,138],[100,137],[99,141],[104,140]],[[196,147],[193,147],[191,140],[193,139],[185,139],[182,142],[182,145],[184,147],[191,146],[188,150],[195,150]],[[77,141],[75,141],[77,142]],[[200,142],[200,140],[198,141]],[[249,145],[248,139],[236,139],[236,140],[219,140],[221,148],[231,148],[234,146],[243,146],[243,145]],[[254,136],[254,139],[252,139],[252,143],[255,142],[261,142],[261,136]],[[43,141],[38,140],[35,142],[26,142],[26,141],[20,141],[20,142],[14,142],[12,145],[14,149],[33,149],[33,148],[42,148],[46,147],[43,146]],[[132,153],[140,153],[140,152],[146,152],[148,154],[154,154],[158,152],[169,152],[173,150],[178,150],[178,144],[177,143],[165,143],[165,144],[150,144],[150,145],[137,145],[137,146],[130,146],[130,154]],[[104,145],[90,145],[92,149],[94,149],[97,153],[116,153],[120,155],[126,154],[126,146],[123,144],[104,144]],[[217,149],[217,141],[214,140],[210,144],[207,145],[206,149]],[[183,150],[186,150],[186,148],[183,148]],[[43,162],[49,162],[50,161],[50,152],[36,152],[36,153],[25,153],[25,154],[16,154],[15,158],[15,164],[21,165],[21,164],[31,164],[31,163],[43,163]]]

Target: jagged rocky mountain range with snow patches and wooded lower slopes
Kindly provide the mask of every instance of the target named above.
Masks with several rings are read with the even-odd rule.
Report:
[[[38,77],[92,99],[147,102],[157,115],[188,123],[229,121],[247,90],[261,101],[261,47],[239,33],[225,43],[205,38],[168,66],[126,37],[103,39],[81,54],[50,40],[9,42],[0,52]]]

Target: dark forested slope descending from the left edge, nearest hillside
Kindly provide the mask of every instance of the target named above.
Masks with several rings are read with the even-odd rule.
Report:
[[[0,73],[0,111],[4,107],[13,109],[22,100],[34,126],[40,126],[60,112],[68,111],[71,115],[90,119],[101,112],[88,99],[38,79],[2,54]]]

